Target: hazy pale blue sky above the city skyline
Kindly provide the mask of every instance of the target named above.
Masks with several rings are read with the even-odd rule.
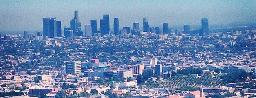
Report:
[[[42,31],[43,17],[56,17],[62,27],[70,27],[74,10],[82,25],[97,19],[97,29],[104,14],[110,15],[110,28],[115,17],[120,28],[133,28],[133,22],[142,27],[143,17],[151,27],[200,25],[201,18],[208,18],[210,25],[247,22],[256,21],[255,4],[256,0],[0,0],[0,31]]]

